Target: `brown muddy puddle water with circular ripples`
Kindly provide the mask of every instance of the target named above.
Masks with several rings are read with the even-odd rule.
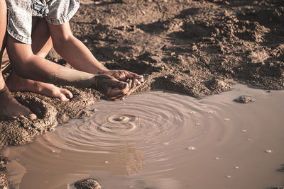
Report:
[[[241,95],[256,102],[235,103]],[[16,188],[72,188],[96,178],[104,188],[269,188],[284,185],[284,91],[236,85],[202,100],[162,91],[99,101],[25,147],[13,161]]]

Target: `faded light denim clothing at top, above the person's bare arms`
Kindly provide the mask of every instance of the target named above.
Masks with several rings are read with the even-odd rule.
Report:
[[[75,15],[80,0],[6,0],[8,7],[8,33],[16,40],[31,44],[33,16],[45,17],[59,25]]]

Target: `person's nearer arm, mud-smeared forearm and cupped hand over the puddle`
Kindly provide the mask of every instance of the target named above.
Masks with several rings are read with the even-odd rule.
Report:
[[[33,55],[31,45],[18,42],[10,35],[7,36],[6,47],[14,71],[23,78],[57,85],[92,87],[111,100],[129,93],[129,84],[126,82],[114,79],[112,76],[89,74],[62,67]]]

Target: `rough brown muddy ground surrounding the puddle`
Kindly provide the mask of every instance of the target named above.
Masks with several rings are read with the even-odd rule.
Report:
[[[139,91],[164,89],[202,96],[240,82],[284,88],[284,1],[109,0],[80,1],[70,21],[74,35],[109,69],[143,74]],[[48,59],[64,63],[50,52]],[[33,141],[70,118],[92,112],[101,95],[67,87],[70,102],[14,93],[38,120],[0,121],[0,147]],[[0,175],[0,188],[4,188]],[[2,182],[3,181],[3,182]]]

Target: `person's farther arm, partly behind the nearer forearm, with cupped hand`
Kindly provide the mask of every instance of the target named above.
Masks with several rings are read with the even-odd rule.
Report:
[[[109,74],[120,81],[128,79],[138,79],[143,82],[143,76],[126,70],[109,70],[104,67],[92,55],[92,52],[74,35],[70,29],[69,23],[53,25],[48,23],[50,35],[53,39],[53,47],[58,54],[65,59],[72,67],[80,71],[86,71],[91,74]]]

